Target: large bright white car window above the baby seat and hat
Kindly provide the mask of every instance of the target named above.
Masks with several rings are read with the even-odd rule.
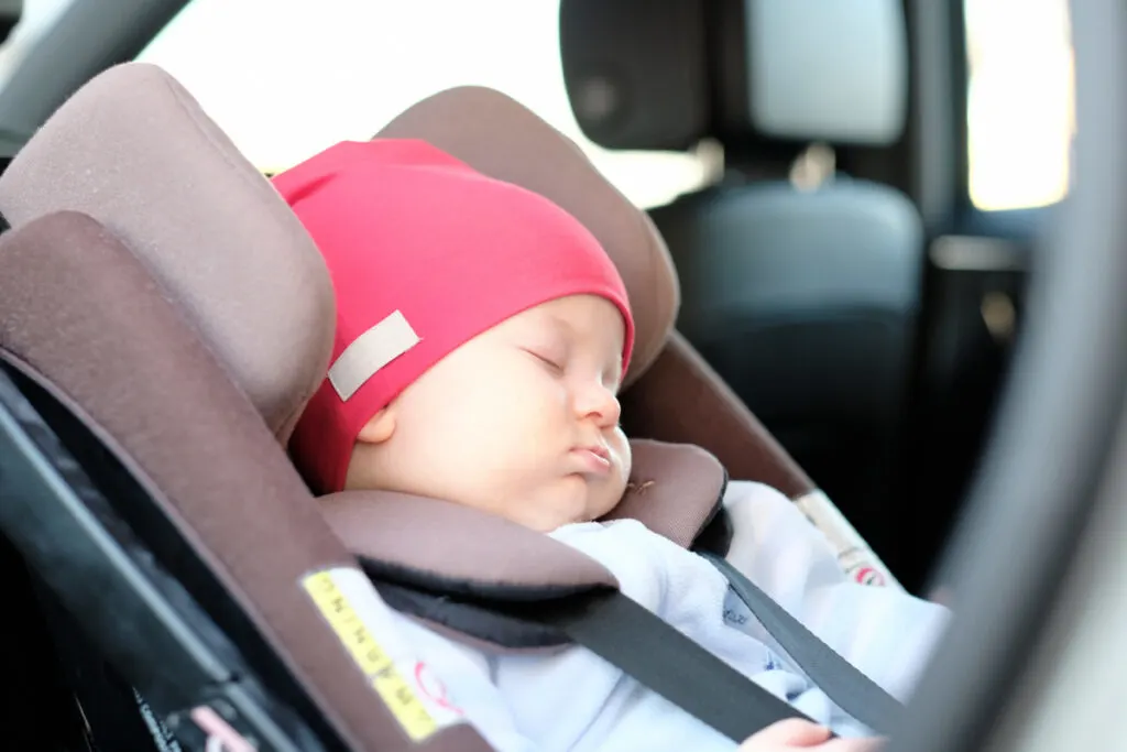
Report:
[[[574,139],[640,206],[708,178],[694,153],[583,138],[559,60],[559,0],[193,0],[141,53],[179,79],[259,168],[369,139],[436,91],[488,86]]]

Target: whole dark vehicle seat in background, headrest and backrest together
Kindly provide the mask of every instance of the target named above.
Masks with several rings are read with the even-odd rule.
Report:
[[[722,145],[718,184],[650,211],[681,278],[676,326],[882,556],[923,227],[900,192],[835,171],[829,147],[899,139],[905,27],[896,0],[560,3],[587,138]]]

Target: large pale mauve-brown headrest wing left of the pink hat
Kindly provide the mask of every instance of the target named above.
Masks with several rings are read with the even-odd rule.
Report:
[[[12,227],[62,210],[144,260],[286,439],[328,368],[332,285],[286,203],[168,73],[128,63],[96,77],[0,177]]]

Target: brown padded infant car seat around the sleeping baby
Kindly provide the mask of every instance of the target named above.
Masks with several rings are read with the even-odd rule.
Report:
[[[734,477],[810,492],[668,333],[676,280],[659,237],[573,144],[473,88],[419,104],[392,133],[445,139],[436,145],[542,191],[600,238],[637,300],[624,406],[636,435],[699,440]],[[154,744],[167,738],[153,716],[181,743],[231,750],[487,750],[412,683],[421,669],[383,623],[380,595],[429,608],[436,582],[504,600],[613,578],[433,499],[314,503],[283,444],[327,368],[331,284],[295,216],[190,95],[151,65],[97,77],[0,176],[0,212],[11,228],[0,237],[0,530],[144,695]],[[711,455],[639,449],[650,461],[636,479],[668,477],[672,493],[663,480],[619,513],[683,543],[719,528],[722,548],[718,488],[694,498],[699,484],[675,483]],[[467,531],[486,529],[482,549]]]

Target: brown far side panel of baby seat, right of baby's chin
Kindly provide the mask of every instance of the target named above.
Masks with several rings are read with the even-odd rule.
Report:
[[[791,498],[814,481],[767,433],[739,397],[673,331],[660,356],[622,395],[622,425],[630,435],[707,449],[737,480],[758,480]]]

